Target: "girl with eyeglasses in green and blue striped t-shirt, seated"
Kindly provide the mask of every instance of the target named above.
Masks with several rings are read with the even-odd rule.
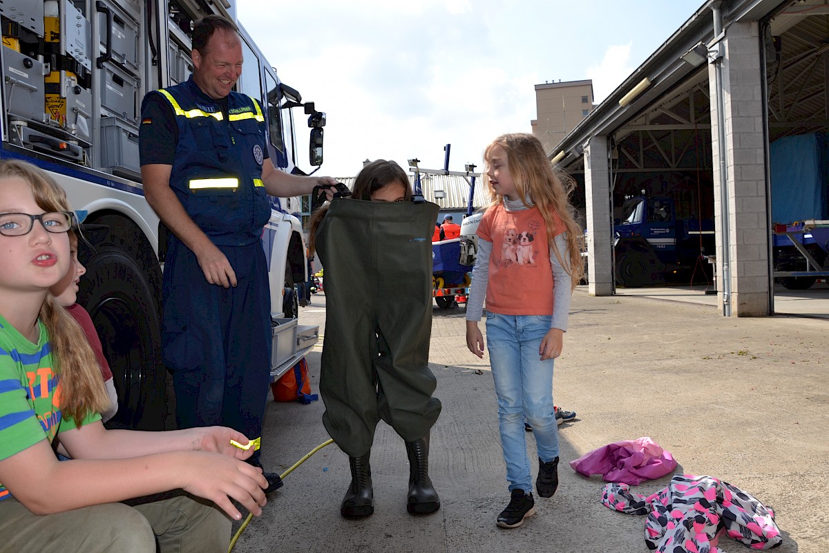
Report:
[[[45,172],[0,162],[0,551],[223,553],[233,502],[257,516],[265,503],[267,482],[242,460],[253,449],[230,443],[249,440],[104,429],[95,354],[49,292],[70,270],[72,221]]]

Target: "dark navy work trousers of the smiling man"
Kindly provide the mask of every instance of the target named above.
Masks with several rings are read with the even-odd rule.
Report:
[[[164,267],[164,363],[179,428],[220,424],[262,435],[270,384],[270,290],[262,244],[219,246],[238,284],[209,284],[196,255],[171,237]],[[257,452],[258,453],[258,452]]]

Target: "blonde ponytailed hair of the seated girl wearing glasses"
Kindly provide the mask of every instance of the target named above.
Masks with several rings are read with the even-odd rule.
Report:
[[[0,162],[0,181],[22,178],[32,187],[38,206],[44,211],[71,211],[66,193],[46,172],[31,163],[5,160]],[[90,412],[100,413],[110,406],[104,380],[95,352],[83,329],[51,293],[38,314],[49,332],[52,370],[59,375],[61,411],[80,424]]]

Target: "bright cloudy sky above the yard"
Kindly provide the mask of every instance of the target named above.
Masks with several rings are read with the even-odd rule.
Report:
[[[237,14],[279,78],[327,113],[318,174],[351,177],[366,158],[443,168],[445,144],[450,170],[480,169],[492,138],[531,132],[534,85],[592,79],[598,104],[703,4],[239,0]]]

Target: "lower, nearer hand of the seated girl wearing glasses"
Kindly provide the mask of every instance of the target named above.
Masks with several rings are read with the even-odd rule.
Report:
[[[261,469],[225,455],[201,452],[188,455],[187,461],[181,463],[183,490],[216,503],[235,521],[241,520],[242,515],[233,501],[256,517],[262,514],[268,481]]]

